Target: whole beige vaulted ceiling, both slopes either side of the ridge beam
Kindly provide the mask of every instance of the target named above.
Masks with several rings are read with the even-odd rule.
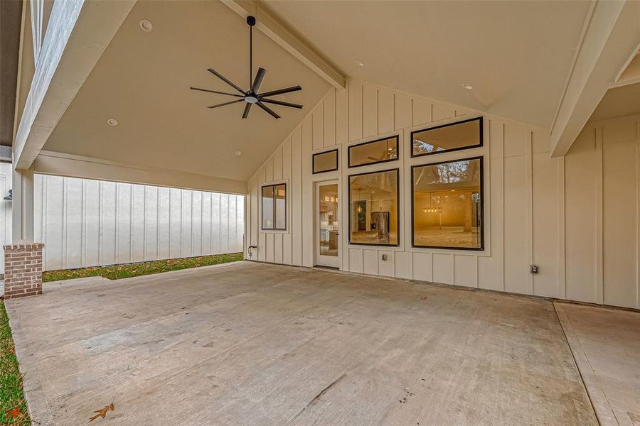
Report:
[[[588,1],[269,1],[264,5],[347,78],[548,128],[567,82]],[[140,21],[153,23],[144,32]],[[248,31],[221,1],[137,1],[48,138],[45,150],[246,180],[330,85],[260,31],[265,90],[301,84],[274,107],[228,97],[213,67],[250,80]],[[471,84],[473,89],[464,89]],[[117,126],[107,119],[117,119]],[[236,156],[236,151],[242,155]]]

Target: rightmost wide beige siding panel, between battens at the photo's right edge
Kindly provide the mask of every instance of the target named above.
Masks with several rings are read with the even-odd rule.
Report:
[[[604,304],[636,307],[636,141],[635,126],[604,127],[603,269]]]

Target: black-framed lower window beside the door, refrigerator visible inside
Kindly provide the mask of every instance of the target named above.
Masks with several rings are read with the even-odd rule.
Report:
[[[349,176],[349,244],[398,246],[400,171]]]

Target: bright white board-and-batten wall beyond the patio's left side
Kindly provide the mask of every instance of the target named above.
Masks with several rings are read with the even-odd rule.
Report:
[[[0,182],[1,184],[1,182]],[[43,269],[243,251],[243,195],[35,175]]]

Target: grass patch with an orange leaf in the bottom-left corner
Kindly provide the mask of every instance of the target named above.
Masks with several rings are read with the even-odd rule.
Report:
[[[20,417],[12,418],[6,410],[20,408]],[[22,393],[22,376],[11,337],[9,317],[4,302],[0,302],[0,425],[31,425]]]

